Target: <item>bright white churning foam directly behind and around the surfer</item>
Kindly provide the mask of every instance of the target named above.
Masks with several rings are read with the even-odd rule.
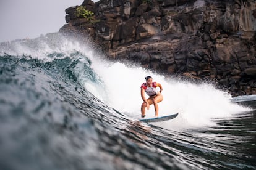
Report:
[[[96,62],[92,67],[104,82],[103,89],[100,89],[107,96],[102,97],[104,102],[133,118],[139,118],[140,105],[143,102],[140,85],[145,81],[145,76],[153,76],[153,81],[161,83],[164,89],[164,100],[159,103],[160,115],[179,112],[179,116],[171,121],[156,123],[167,129],[213,126],[214,118],[229,117],[250,110],[232,103],[231,95],[209,83],[193,84],[175,79],[167,80],[164,76],[143,68],[127,67],[118,62]],[[154,115],[155,110],[151,105],[147,117]]]

